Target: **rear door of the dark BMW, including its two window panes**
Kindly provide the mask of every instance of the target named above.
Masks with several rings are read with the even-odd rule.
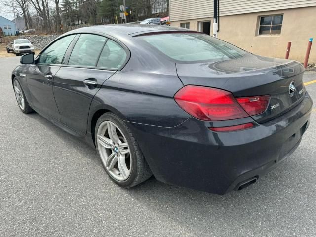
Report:
[[[62,123],[85,134],[89,108],[101,85],[126,61],[127,50],[101,35],[81,34],[55,75],[54,95]]]

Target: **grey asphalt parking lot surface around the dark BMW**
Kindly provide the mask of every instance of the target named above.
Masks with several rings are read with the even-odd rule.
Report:
[[[295,153],[245,190],[219,196],[154,178],[126,190],[93,149],[20,112],[10,82],[18,61],[0,58],[0,236],[316,236],[315,105]],[[316,102],[316,83],[307,90]]]

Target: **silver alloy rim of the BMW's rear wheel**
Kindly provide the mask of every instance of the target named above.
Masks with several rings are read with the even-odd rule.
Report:
[[[127,180],[132,159],[128,142],[118,126],[111,121],[102,122],[97,132],[97,146],[108,173],[118,181]]]

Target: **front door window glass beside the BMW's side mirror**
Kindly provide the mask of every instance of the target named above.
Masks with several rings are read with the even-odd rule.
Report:
[[[75,35],[70,35],[55,41],[40,54],[39,63],[61,64],[67,48],[74,38]]]

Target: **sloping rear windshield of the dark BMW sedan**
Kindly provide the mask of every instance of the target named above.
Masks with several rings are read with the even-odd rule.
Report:
[[[199,33],[164,33],[141,38],[168,57],[183,62],[237,59],[248,54],[232,44]]]

